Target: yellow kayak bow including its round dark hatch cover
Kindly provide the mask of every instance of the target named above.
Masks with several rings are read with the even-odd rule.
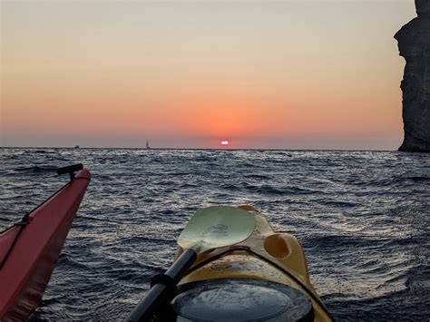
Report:
[[[312,287],[298,239],[276,233],[251,206],[240,206],[255,220],[247,239],[201,252],[171,289],[170,297],[153,314],[156,321],[331,321]],[[216,216],[223,210],[234,217],[238,208],[210,207],[199,212]],[[191,219],[192,220],[192,219]],[[202,225],[204,226],[204,225]],[[246,226],[246,224],[245,224]],[[214,226],[223,238],[222,224]],[[184,229],[185,235],[187,229]],[[205,234],[202,229],[200,234]],[[184,247],[175,259],[181,258]],[[153,278],[151,284],[170,284]],[[151,320],[151,317],[128,320]]]

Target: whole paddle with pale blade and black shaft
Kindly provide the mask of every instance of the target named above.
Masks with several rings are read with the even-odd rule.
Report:
[[[255,217],[246,210],[227,206],[198,210],[178,239],[183,249],[181,256],[158,278],[160,282],[155,283],[134,307],[127,321],[149,321],[157,308],[171,296],[171,286],[178,284],[200,254],[248,239],[255,225]]]

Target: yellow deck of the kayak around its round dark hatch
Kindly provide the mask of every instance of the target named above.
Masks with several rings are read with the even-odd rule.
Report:
[[[242,206],[242,209],[252,212],[257,221],[256,228],[249,239],[200,255],[186,275],[181,278],[179,289],[190,288],[190,285],[196,283],[212,283],[214,280],[266,281],[268,284],[280,284],[297,289],[304,294],[313,307],[311,320],[331,321],[332,318],[327,312],[327,308],[324,307],[310,283],[306,258],[298,239],[286,233],[274,232],[268,221],[252,207]],[[180,248],[177,257],[181,255],[181,251]],[[238,283],[238,287],[240,287],[240,283]],[[217,289],[217,294],[220,294],[220,291]],[[259,300],[263,301],[263,299],[264,297],[261,297]],[[201,303],[198,298],[194,298],[192,301]],[[224,303],[225,300],[222,298],[218,305],[213,303],[213,299],[211,301],[219,311],[224,307],[229,307],[229,301]],[[175,299],[172,303],[174,302]],[[230,307],[240,305],[243,305],[243,300]],[[248,307],[256,306],[250,304]],[[259,312],[261,310],[256,308],[256,313]],[[274,317],[273,320],[286,319],[285,317],[279,317],[279,319]]]

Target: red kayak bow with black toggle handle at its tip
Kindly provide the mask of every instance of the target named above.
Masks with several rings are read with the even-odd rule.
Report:
[[[0,232],[0,321],[26,320],[38,307],[91,179],[87,170],[74,175],[81,169],[59,170],[71,181]]]

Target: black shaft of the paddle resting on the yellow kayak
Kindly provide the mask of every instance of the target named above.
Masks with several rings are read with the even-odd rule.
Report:
[[[197,259],[197,253],[194,249],[184,249],[183,253],[169,268],[165,275],[171,277],[173,282],[178,284],[183,274],[192,263]],[[169,288],[163,283],[155,284],[148,292],[145,298],[134,307],[132,314],[127,317],[127,321],[150,321],[157,308],[164,303],[171,294]]]

